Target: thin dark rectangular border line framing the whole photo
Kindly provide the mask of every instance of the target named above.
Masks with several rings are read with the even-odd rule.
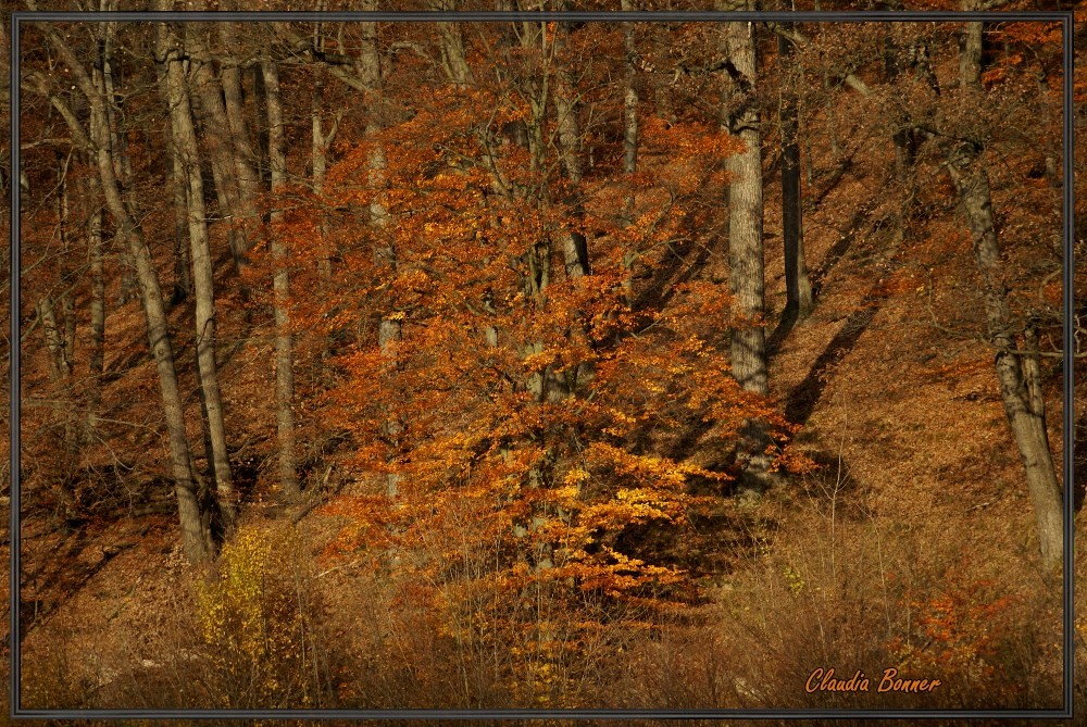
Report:
[[[213,23],[213,22],[378,22],[378,23],[507,23],[536,22],[640,22],[640,23],[725,23],[725,22],[794,22],[794,23],[989,23],[1037,22],[1060,23],[1063,39],[1063,486],[1064,486],[1064,552],[1063,552],[1063,707],[1061,710],[23,710],[21,702],[20,668],[20,40],[22,23],[45,22],[145,22],[145,23]],[[1074,48],[1073,11],[851,11],[851,12],[723,12],[723,11],[429,11],[429,12],[51,12],[13,11],[11,13],[11,59],[9,65],[11,88],[11,296],[10,296],[10,653],[11,692],[9,715],[13,719],[1072,719],[1074,712],[1074,519],[1073,493],[1075,489],[1074,427]]]

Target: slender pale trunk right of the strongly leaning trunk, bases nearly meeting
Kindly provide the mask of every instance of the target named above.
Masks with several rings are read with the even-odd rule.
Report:
[[[211,443],[209,460],[215,477],[215,491],[223,526],[234,526],[236,503],[230,459],[226,450],[226,425],[218,389],[218,366],[215,362],[215,290],[214,266],[208,240],[208,221],[203,202],[203,176],[200,170],[200,151],[189,89],[180,54],[175,47],[173,33],[163,25],[159,30],[159,55],[164,59],[166,92],[170,99],[170,120],[173,129],[173,153],[180,158],[188,192],[188,233],[192,259],[192,287],[196,297],[197,367],[200,373],[200,392],[208,419]]]

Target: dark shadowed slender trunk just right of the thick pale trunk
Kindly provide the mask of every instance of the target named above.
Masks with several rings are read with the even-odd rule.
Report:
[[[788,73],[792,42],[777,36],[783,73]],[[797,97],[783,78],[782,126],[782,237],[785,243],[785,317],[803,321],[812,309],[812,285],[804,263],[803,215],[800,197],[800,143],[797,133]]]

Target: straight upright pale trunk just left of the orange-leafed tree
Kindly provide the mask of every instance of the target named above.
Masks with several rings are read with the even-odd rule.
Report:
[[[268,163],[272,167],[272,193],[279,195],[287,185],[287,143],[284,134],[283,102],[279,98],[279,70],[267,58],[261,60],[261,73],[268,113]],[[276,201],[278,204],[278,200]],[[295,459],[295,340],[290,331],[290,277],[287,273],[286,233],[283,212],[272,213],[272,300],[275,308],[275,396],[276,431],[279,444],[279,487],[287,500],[299,496],[298,467]]]

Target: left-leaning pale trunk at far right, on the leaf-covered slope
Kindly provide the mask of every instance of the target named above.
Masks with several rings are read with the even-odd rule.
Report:
[[[960,57],[960,83],[964,92],[977,93],[980,85],[982,23],[967,24]],[[957,142],[949,153],[949,168],[959,190],[974,243],[977,270],[982,274],[989,340],[997,349],[996,369],[1000,398],[1026,471],[1027,490],[1034,505],[1042,565],[1057,569],[1063,555],[1064,513],[1061,485],[1046,430],[1037,360],[1037,339],[1030,328],[1025,334],[1027,353],[1016,353],[1008,289],[992,213],[989,175],[978,146]]]

